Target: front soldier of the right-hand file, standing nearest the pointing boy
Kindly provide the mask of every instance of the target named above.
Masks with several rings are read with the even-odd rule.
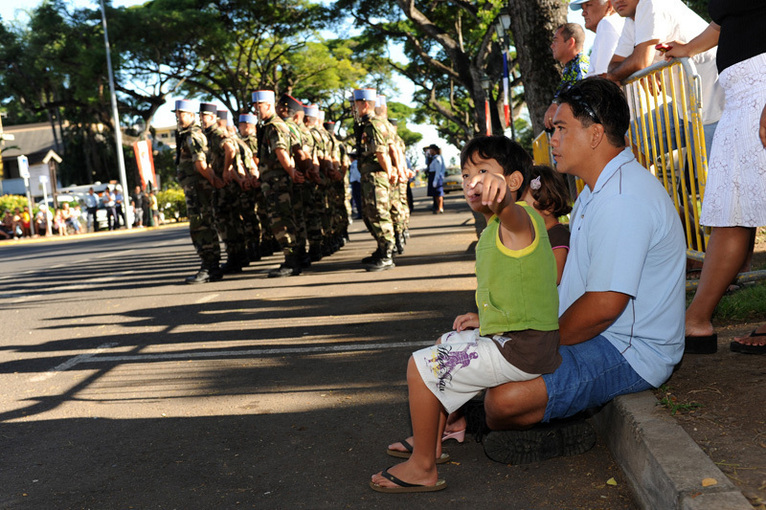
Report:
[[[362,259],[362,263],[368,271],[383,271],[394,267],[394,226],[389,199],[394,169],[388,153],[386,126],[375,116],[375,95],[375,89],[354,90],[357,118],[354,134],[362,174],[362,214],[378,244],[378,249]]]

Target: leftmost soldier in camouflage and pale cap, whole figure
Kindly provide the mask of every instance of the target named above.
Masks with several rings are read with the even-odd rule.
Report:
[[[189,234],[202,266],[186,283],[206,283],[223,278],[219,267],[221,248],[213,213],[213,192],[223,186],[207,164],[207,139],[195,124],[194,104],[176,101],[176,177],[184,190]]]

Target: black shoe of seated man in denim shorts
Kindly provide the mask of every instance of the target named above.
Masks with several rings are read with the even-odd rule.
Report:
[[[596,432],[584,418],[541,423],[527,430],[494,430],[482,439],[484,453],[503,464],[529,464],[587,452]]]

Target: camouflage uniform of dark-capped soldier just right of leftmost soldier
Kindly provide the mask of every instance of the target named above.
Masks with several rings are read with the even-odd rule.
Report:
[[[205,136],[208,142],[208,160],[210,167],[215,175],[223,179],[225,165],[225,147],[228,145],[234,150],[235,160],[233,164],[236,168],[236,158],[239,149],[236,142],[229,134],[217,124],[213,124],[205,129]],[[245,265],[245,232],[242,225],[239,212],[242,210],[240,202],[241,188],[236,182],[230,182],[223,188],[215,191],[215,220],[218,228],[218,234],[226,245],[226,263],[227,268],[233,266]]]

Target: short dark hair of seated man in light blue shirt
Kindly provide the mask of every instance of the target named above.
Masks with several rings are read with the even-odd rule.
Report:
[[[555,101],[568,104],[572,115],[584,126],[601,124],[609,143],[625,147],[630,109],[625,95],[614,82],[597,76],[586,78],[559,92]]]

